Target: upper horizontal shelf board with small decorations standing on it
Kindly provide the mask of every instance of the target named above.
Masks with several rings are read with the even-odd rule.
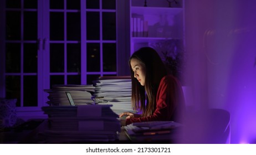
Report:
[[[182,8],[161,8],[161,7],[131,7],[131,13],[136,14],[172,14],[176,15],[183,11]]]

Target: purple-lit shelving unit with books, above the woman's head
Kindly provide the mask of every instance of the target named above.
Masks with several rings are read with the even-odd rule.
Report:
[[[130,0],[131,54],[142,46],[167,40],[184,40],[183,0],[168,6],[166,0]]]

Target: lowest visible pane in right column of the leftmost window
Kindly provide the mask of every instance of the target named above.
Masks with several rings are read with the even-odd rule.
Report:
[[[24,76],[23,106],[37,106],[37,76]]]

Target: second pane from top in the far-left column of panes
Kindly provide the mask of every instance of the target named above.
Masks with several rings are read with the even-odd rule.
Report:
[[[6,12],[6,40],[21,40],[21,12]]]

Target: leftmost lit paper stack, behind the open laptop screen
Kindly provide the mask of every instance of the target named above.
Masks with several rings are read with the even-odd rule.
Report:
[[[94,91],[93,85],[53,85],[52,89],[44,90],[49,94],[47,104],[53,106],[70,105],[66,92],[70,92],[75,105],[94,104],[92,99]]]

